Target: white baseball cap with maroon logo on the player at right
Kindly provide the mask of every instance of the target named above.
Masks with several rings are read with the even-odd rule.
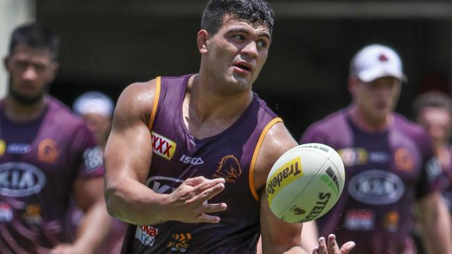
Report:
[[[365,46],[356,53],[350,63],[350,76],[354,75],[364,82],[385,76],[407,81],[403,74],[401,58],[396,51],[380,44]]]

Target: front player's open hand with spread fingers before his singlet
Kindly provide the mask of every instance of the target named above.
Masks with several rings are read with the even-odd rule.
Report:
[[[207,179],[203,176],[188,178],[168,196],[170,209],[168,216],[172,221],[186,223],[218,223],[220,217],[209,215],[224,211],[225,203],[209,203],[209,199],[225,189],[225,179]]]

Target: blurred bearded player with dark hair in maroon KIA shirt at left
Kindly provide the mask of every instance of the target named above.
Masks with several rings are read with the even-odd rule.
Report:
[[[13,31],[0,101],[1,253],[92,253],[108,227],[99,146],[86,124],[49,96],[59,39],[39,24]],[[73,243],[64,237],[70,197],[86,212]]]

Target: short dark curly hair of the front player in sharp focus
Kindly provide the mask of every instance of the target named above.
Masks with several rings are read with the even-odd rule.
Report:
[[[216,34],[225,15],[263,24],[270,33],[275,23],[275,14],[264,0],[210,0],[202,13],[201,29]]]

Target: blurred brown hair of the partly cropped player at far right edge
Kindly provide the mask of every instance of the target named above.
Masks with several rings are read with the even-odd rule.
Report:
[[[423,108],[444,108],[452,114],[452,99],[444,92],[430,91],[417,96],[412,108],[416,118]]]

